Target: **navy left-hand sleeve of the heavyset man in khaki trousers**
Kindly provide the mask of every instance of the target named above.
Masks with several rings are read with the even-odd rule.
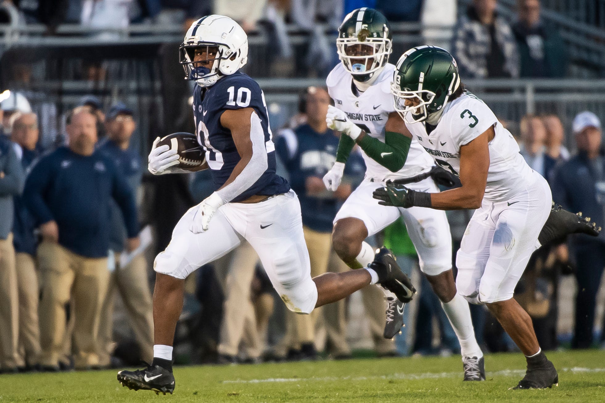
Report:
[[[51,155],[46,156],[34,165],[25,181],[25,189],[23,191],[25,206],[34,215],[36,222],[39,224],[54,220],[53,213],[44,200],[44,194],[52,185],[53,169],[51,159]]]

